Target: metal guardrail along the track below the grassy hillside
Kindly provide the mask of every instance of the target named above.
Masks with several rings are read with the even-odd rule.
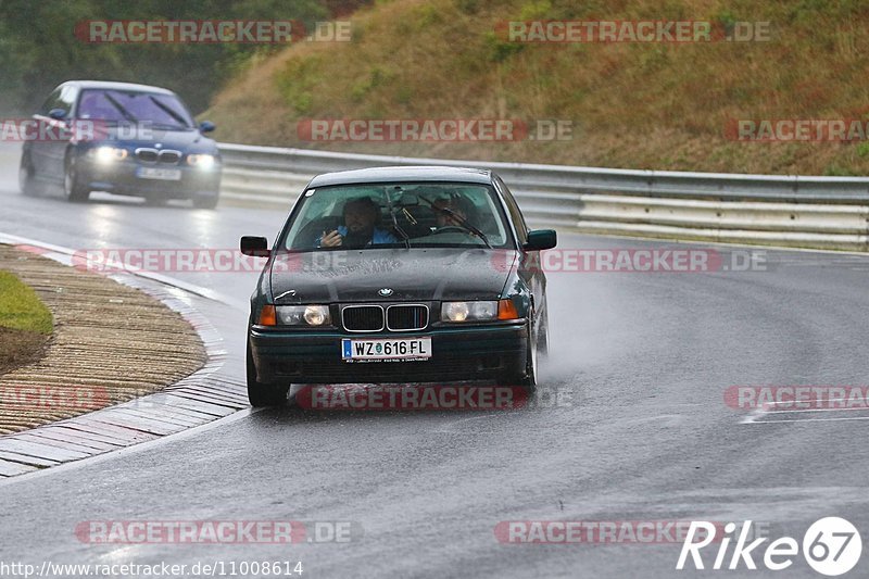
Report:
[[[635,171],[221,144],[229,200],[289,209],[316,174],[382,165],[489,168],[529,224],[578,232],[867,251],[869,178]]]

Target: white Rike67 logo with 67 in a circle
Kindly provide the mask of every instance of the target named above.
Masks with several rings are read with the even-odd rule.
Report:
[[[763,557],[763,564],[767,569],[780,571],[791,567],[799,553],[801,545],[792,537],[776,539],[764,550],[758,547],[769,541],[767,537],[747,542],[752,531],[751,520],[746,520],[742,527],[738,527],[735,523],[728,523],[725,525],[722,537],[717,536],[716,530],[720,528],[717,529],[711,523],[691,521],[676,568],[684,569],[690,556],[695,569],[705,569],[708,561],[704,563],[701,551],[713,542],[718,544],[718,552],[711,565],[714,570],[725,568],[756,570],[755,557]],[[696,537],[701,539],[694,541]],[[733,539],[735,545],[732,553],[728,553]],[[857,528],[849,521],[840,517],[824,517],[808,528],[803,536],[802,547],[803,557],[809,567],[821,575],[834,577],[848,572],[857,565],[862,553],[862,540]]]

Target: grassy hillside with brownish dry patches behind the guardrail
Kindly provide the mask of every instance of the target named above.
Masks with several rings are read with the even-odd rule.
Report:
[[[518,45],[524,20],[769,21],[766,42]],[[253,63],[201,115],[223,141],[610,167],[866,175],[861,142],[739,142],[731,118],[869,119],[861,0],[432,0],[356,12],[351,42]],[[569,119],[557,142],[310,143],[310,118]]]

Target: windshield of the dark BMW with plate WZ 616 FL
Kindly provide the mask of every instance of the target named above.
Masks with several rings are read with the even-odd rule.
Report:
[[[378,184],[308,189],[279,248],[503,248],[495,192],[470,184]]]

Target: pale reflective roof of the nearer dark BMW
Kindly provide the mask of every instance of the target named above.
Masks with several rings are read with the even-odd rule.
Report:
[[[311,180],[310,188],[358,182],[449,181],[491,185],[492,172],[481,168],[437,165],[370,167],[324,173]]]

